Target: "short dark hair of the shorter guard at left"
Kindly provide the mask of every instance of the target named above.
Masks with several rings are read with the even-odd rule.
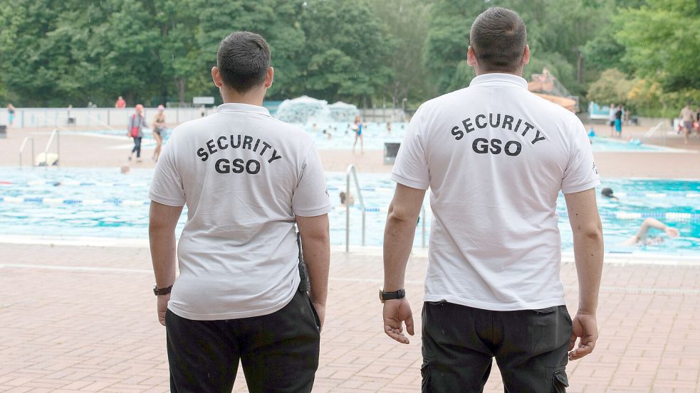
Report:
[[[270,68],[270,47],[259,34],[236,31],[221,40],[216,67],[227,86],[239,93],[248,92],[265,82]]]

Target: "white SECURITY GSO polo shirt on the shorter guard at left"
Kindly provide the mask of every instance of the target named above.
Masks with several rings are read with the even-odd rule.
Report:
[[[300,281],[295,215],[331,210],[310,136],[248,104],[223,104],[177,126],[149,198],[187,204],[168,308],[194,320],[261,316],[286,306]]]

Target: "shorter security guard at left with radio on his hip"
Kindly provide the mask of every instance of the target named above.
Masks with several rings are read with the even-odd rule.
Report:
[[[312,137],[262,106],[270,61],[258,34],[224,38],[211,69],[224,104],[177,126],[155,168],[150,247],[171,392],[231,392],[239,362],[249,392],[313,386],[331,205]]]

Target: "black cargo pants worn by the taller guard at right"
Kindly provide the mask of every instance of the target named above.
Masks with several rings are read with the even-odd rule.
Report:
[[[571,318],[566,306],[489,311],[423,305],[422,392],[483,392],[496,357],[506,393],[564,393]]]

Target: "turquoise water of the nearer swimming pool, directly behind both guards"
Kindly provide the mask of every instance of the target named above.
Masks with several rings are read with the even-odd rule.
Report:
[[[1,168],[0,234],[147,239],[152,173],[149,169],[122,175],[118,168]],[[360,173],[359,179],[366,207],[365,244],[379,246],[395,183],[388,173]],[[331,243],[345,244],[345,208],[339,197],[345,190],[345,173],[326,173],[326,181],[335,205],[329,215]],[[700,255],[700,181],[604,179],[603,187],[612,188],[620,198],[617,202],[598,198],[608,251]],[[362,210],[357,191],[351,190],[355,205],[350,207],[350,243],[360,244]],[[429,230],[427,197],[425,208]],[[570,250],[573,240],[562,195],[558,213],[563,248]],[[183,213],[178,234],[186,217]],[[677,227],[681,236],[669,239],[664,235],[664,242],[654,246],[621,246],[645,217]],[[421,229],[422,224],[417,227],[415,247],[421,246]],[[652,230],[650,235],[661,233]]]

